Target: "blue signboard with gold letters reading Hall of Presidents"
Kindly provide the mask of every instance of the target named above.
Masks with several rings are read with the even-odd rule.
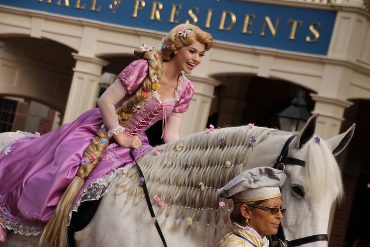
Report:
[[[333,10],[243,0],[0,0],[0,5],[163,32],[188,21],[216,40],[320,55],[327,54],[336,18]]]

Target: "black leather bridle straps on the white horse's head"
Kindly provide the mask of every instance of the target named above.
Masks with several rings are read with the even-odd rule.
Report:
[[[294,137],[297,135],[292,135],[289,139],[285,142],[282,152],[280,153],[278,159],[276,160],[273,168],[281,170],[284,172],[285,167],[287,164],[297,164],[298,166],[304,167],[306,165],[306,161],[288,157],[289,152],[289,144],[292,142]],[[294,247],[310,242],[316,241],[328,241],[328,234],[316,234],[307,237],[301,237],[295,240],[288,240],[284,234],[284,229],[282,223],[280,223],[278,228],[278,233],[272,236],[272,241],[276,242],[277,244],[274,247]]]

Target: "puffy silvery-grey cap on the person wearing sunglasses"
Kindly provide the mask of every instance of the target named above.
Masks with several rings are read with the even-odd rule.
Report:
[[[253,202],[281,196],[287,175],[270,167],[257,167],[244,171],[217,191],[222,198],[234,197],[235,202]]]

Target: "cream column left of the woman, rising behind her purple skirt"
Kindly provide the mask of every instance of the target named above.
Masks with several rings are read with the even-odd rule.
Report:
[[[94,108],[102,69],[107,61],[98,57],[89,57],[72,53],[76,59],[63,124],[75,120],[86,110]]]

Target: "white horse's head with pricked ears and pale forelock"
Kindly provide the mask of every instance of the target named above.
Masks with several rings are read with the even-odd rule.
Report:
[[[329,215],[343,196],[340,168],[335,160],[352,138],[352,125],[346,132],[322,140],[315,136],[318,114],[312,116],[289,145],[288,156],[304,160],[302,166],[286,163],[287,181],[282,195],[287,213],[279,233],[288,246],[327,246]],[[293,162],[294,163],[294,162]]]

